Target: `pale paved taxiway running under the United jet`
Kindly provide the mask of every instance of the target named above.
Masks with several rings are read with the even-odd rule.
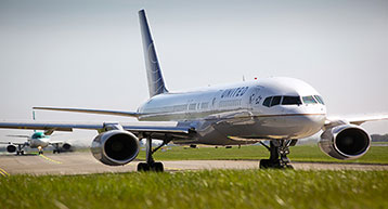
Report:
[[[139,161],[126,166],[105,166],[89,152],[63,153],[60,155],[1,155],[0,171],[7,174],[89,174],[135,171]],[[258,160],[174,160],[163,161],[166,171],[203,169],[255,169]],[[293,162],[302,170],[388,170],[388,165]]]

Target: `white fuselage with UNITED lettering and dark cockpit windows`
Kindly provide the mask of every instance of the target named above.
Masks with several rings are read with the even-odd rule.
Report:
[[[266,104],[266,99],[274,100],[273,106],[268,101]],[[300,103],[295,103],[297,99]],[[158,94],[138,112],[140,120],[189,122],[197,134],[182,143],[202,144],[301,139],[320,131],[326,119],[320,94],[306,82],[292,78]]]

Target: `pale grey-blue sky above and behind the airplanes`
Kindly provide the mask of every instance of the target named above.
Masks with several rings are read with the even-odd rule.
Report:
[[[135,110],[148,97],[141,9],[170,91],[293,77],[323,95],[328,116],[388,114],[385,0],[0,0],[0,120],[29,120],[33,106]],[[363,127],[388,133],[387,121]],[[31,131],[1,130],[0,140],[21,133]],[[96,132],[61,138],[86,135]]]

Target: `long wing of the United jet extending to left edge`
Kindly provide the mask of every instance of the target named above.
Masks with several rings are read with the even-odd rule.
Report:
[[[29,129],[29,130],[44,130],[46,134],[51,134],[54,131],[73,131],[73,129],[87,129],[103,132],[109,130],[109,126],[119,126],[124,130],[130,131],[135,135],[152,134],[153,139],[165,139],[166,134],[173,138],[189,138],[195,132],[194,128],[182,122],[37,122],[37,121],[1,121],[0,128],[3,129]]]

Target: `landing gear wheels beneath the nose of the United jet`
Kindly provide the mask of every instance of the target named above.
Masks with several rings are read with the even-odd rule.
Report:
[[[270,146],[260,142],[260,144],[267,147],[267,149],[270,152],[269,159],[260,160],[260,169],[293,169],[294,167],[289,165],[290,160],[288,159],[287,155],[289,154],[289,146],[295,146],[297,142],[297,140],[271,140]]]

